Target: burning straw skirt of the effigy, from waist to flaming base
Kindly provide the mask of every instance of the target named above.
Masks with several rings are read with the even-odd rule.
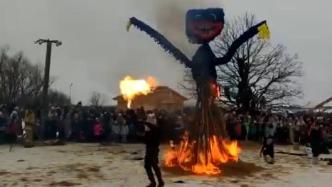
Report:
[[[199,85],[195,124],[185,132],[180,144],[166,152],[165,166],[180,167],[199,175],[218,175],[219,166],[238,161],[237,141],[226,140],[225,123],[214,104],[218,92],[213,83]]]

